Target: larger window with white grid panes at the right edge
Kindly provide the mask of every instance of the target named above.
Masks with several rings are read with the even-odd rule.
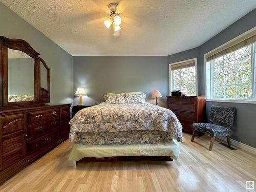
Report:
[[[207,98],[256,99],[256,43],[245,42],[206,58]]]

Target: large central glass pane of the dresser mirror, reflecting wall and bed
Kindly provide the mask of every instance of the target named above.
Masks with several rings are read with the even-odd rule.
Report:
[[[8,48],[8,101],[34,101],[34,58]]]

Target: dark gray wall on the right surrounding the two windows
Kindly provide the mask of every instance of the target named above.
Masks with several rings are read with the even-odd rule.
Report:
[[[225,42],[256,26],[256,9],[240,18],[216,36],[209,39],[198,48],[187,50],[167,57],[168,63],[198,57],[198,94],[205,95],[204,84],[204,54],[225,44]],[[236,122],[233,127],[232,139],[256,147],[256,104],[206,102],[207,117],[211,105],[234,106],[237,108]]]

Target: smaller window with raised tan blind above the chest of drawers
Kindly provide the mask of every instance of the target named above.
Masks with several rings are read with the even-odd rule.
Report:
[[[187,96],[197,95],[195,59],[170,64],[170,77],[170,92],[180,90]]]

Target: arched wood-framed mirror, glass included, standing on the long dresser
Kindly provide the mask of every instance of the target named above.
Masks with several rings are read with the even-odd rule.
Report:
[[[0,108],[50,102],[50,69],[25,40],[0,36]]]

